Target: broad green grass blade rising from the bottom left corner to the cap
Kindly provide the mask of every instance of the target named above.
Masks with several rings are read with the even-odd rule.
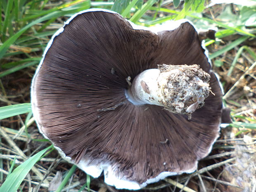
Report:
[[[5,182],[0,187],[0,192],[17,192],[17,189],[21,185],[31,168],[36,164],[40,157],[52,146],[43,149],[37,154],[31,156],[23,164],[19,165],[14,171],[9,175]]]

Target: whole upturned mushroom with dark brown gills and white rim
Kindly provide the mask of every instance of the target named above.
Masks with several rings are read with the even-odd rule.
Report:
[[[197,31],[184,19],[158,30],[105,9],[79,12],[33,77],[40,132],[116,188],[191,173],[218,137],[222,92]]]

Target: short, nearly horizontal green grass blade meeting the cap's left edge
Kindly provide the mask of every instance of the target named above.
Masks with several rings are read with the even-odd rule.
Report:
[[[10,106],[0,107],[0,119],[5,119],[19,114],[31,111],[30,103],[14,104]]]

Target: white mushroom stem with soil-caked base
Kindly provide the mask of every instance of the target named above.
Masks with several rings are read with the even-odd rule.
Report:
[[[199,65],[159,65],[135,77],[126,96],[135,105],[155,104],[178,114],[191,114],[209,95],[210,75]]]

